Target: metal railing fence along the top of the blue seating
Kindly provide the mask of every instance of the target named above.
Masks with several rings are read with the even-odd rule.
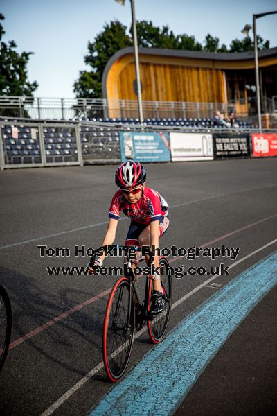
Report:
[[[272,100],[265,99],[263,108],[272,110]],[[242,103],[240,103],[242,104]],[[256,114],[255,99],[244,101],[244,110],[237,116]],[[147,118],[213,117],[215,112],[235,111],[236,103],[188,103],[179,101],[143,101]],[[247,110],[245,110],[247,109]],[[105,100],[93,98],[33,98],[0,96],[0,116],[27,119],[124,119],[139,116],[136,100]]]

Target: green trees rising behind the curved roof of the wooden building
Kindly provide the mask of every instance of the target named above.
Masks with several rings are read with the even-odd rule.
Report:
[[[246,52],[253,51],[253,41],[250,37],[242,40],[232,40],[229,48],[220,45],[218,37],[208,34],[203,44],[197,42],[194,36],[186,34],[175,35],[168,26],[161,28],[154,26],[152,21],[137,21],[136,32],[139,47],[158,49],[179,49],[182,51],[205,51],[213,53]],[[74,92],[81,98],[102,98],[102,74],[105,66],[114,53],[127,46],[132,46],[132,26],[127,33],[127,27],[120,21],[111,21],[105,24],[104,30],[99,33],[94,42],[88,44],[88,54],[84,62],[90,67],[88,71],[80,71],[78,80],[74,83]],[[258,36],[258,49],[269,48],[269,41]]]

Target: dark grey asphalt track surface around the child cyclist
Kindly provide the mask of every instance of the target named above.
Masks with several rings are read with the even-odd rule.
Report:
[[[163,246],[190,247],[217,240],[213,246],[239,247],[238,259],[242,259],[276,239],[277,159],[148,164],[147,168],[148,186],[157,189],[171,206]],[[49,277],[46,272],[46,266],[84,266],[87,259],[74,257],[75,245],[100,245],[105,232],[102,223],[107,221],[109,201],[116,190],[114,171],[115,166],[85,166],[0,172],[0,283],[12,303],[12,343],[114,283],[115,277]],[[124,241],[127,226],[127,220],[120,220],[116,242]],[[37,245],[66,247],[71,255],[40,257]],[[188,297],[173,309],[169,329],[276,248],[274,243],[260,250],[232,268],[229,277],[218,277],[216,285]],[[118,259],[106,264],[115,263],[120,265]],[[178,259],[172,265],[187,268],[188,263],[208,267],[212,261]],[[228,266],[232,261],[220,258],[215,263]],[[174,279],[173,303],[206,279]],[[107,295],[100,297],[10,350],[0,376],[1,415],[44,413],[101,363],[106,302]],[[276,319],[276,288],[226,341],[177,413],[274,415],[275,410],[276,414],[273,317]],[[129,368],[150,348],[144,332],[134,343]],[[86,415],[110,388],[101,369],[70,397],[60,400],[55,415]]]

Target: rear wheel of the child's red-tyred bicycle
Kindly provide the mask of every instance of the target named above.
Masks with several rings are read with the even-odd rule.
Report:
[[[165,292],[163,297],[166,300],[166,304],[159,315],[154,315],[153,320],[148,320],[148,332],[152,342],[155,344],[161,341],[161,338],[163,338],[163,335],[166,332],[172,300],[172,281],[168,270],[168,260],[165,257],[161,257],[159,263],[161,266],[161,286],[163,286]],[[150,311],[151,305],[152,286],[151,280],[148,291],[148,312]]]

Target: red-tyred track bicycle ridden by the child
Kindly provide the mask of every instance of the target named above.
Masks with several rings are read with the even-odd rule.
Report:
[[[109,248],[127,249],[127,263],[124,277],[120,277],[111,290],[107,303],[102,333],[102,354],[107,376],[111,381],[118,381],[124,374],[132,352],[134,331],[140,331],[145,324],[152,343],[160,343],[166,332],[170,316],[172,299],[172,281],[169,273],[169,264],[166,257],[159,258],[161,266],[161,285],[163,286],[163,298],[166,301],[165,308],[159,315],[152,315],[151,296],[152,279],[145,276],[144,299],[139,295],[138,286],[131,266],[145,260],[145,256],[136,259],[130,258],[129,246],[109,245]],[[137,246],[132,250],[141,251]],[[91,257],[89,266],[93,266],[96,256]],[[153,257],[150,257],[148,266]]]

